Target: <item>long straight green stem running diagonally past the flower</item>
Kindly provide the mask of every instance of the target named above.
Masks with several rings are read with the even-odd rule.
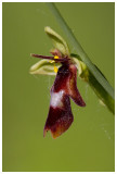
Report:
[[[82,62],[86,63],[88,69],[91,71],[93,77],[95,78],[95,80],[98,80],[98,83],[104,88],[104,90],[114,100],[115,99],[115,91],[114,91],[113,87],[109,85],[109,83],[106,80],[106,78],[104,78],[102,73],[94,66],[94,64],[91,62],[91,60],[89,59],[87,53],[83,51],[82,47],[80,46],[78,40],[75,38],[72,29],[68,27],[68,25],[66,24],[66,22],[62,17],[62,15],[58,12],[58,10],[56,9],[55,4],[52,2],[48,2],[47,4],[50,8],[50,10],[52,11],[52,13],[54,14],[54,16],[56,17],[56,21],[58,22],[60,26],[64,30],[65,35],[68,37],[69,41],[75,47],[75,49],[76,49],[77,53],[79,54],[79,57],[81,58]]]

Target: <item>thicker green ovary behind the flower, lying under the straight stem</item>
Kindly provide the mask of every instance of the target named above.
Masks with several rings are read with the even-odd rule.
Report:
[[[109,94],[105,90],[105,88],[103,88],[103,86],[96,80],[94,75],[91,73],[88,66],[81,61],[81,58],[79,55],[72,53],[70,57],[77,65],[78,76],[80,77],[80,79],[84,80],[91,86],[95,95],[99,97],[101,103],[103,105],[106,105],[109,109],[109,111],[114,114],[115,100],[112,98],[112,96],[109,96]],[[95,66],[95,69],[98,67]],[[105,78],[104,75],[103,77]]]

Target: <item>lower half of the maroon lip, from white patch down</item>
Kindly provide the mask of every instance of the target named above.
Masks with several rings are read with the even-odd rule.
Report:
[[[51,92],[50,110],[43,136],[46,136],[48,130],[51,130],[53,138],[58,137],[68,129],[73,120],[69,97],[64,91]]]

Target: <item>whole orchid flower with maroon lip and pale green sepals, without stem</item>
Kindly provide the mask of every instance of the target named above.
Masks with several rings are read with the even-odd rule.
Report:
[[[46,74],[46,69],[42,70],[42,67],[49,69],[49,64],[54,64],[53,72],[56,74],[56,77],[50,91],[50,109],[43,129],[43,136],[50,130],[52,137],[56,138],[67,130],[74,121],[69,98],[80,107],[84,107],[86,103],[77,88],[77,66],[75,61],[69,57],[66,42],[50,27],[46,28],[46,32],[54,39],[55,49],[51,51],[53,57],[32,53],[31,57],[43,60],[31,66],[30,73]],[[49,73],[49,75],[53,75],[50,70]]]

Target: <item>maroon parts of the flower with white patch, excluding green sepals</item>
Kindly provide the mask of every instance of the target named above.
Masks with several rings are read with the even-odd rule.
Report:
[[[51,53],[54,54],[54,52]],[[60,54],[58,50],[56,53]],[[69,98],[80,107],[86,105],[77,88],[76,65],[72,62],[70,58],[63,58],[57,54],[54,57],[31,54],[36,58],[49,59],[62,64],[51,88],[50,109],[43,130],[43,136],[46,136],[48,130],[51,130],[53,138],[58,137],[67,130],[74,121]]]

